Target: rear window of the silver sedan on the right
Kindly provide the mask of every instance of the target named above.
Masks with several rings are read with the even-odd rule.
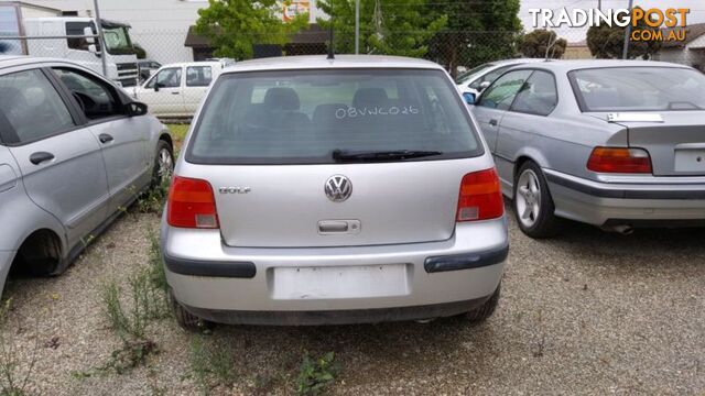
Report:
[[[677,67],[610,67],[568,74],[583,111],[705,109],[705,76]]]

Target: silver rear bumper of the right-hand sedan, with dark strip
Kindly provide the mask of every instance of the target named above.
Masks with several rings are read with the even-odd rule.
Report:
[[[567,219],[595,226],[705,224],[705,177],[600,183],[552,169],[544,174],[556,215]]]

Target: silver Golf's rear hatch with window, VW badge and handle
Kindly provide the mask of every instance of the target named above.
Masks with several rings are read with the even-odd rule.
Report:
[[[491,166],[441,70],[228,74],[205,106],[178,173],[210,183],[231,246],[447,240]]]

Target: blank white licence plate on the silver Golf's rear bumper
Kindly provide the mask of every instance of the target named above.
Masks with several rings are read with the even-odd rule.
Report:
[[[330,299],[403,296],[405,264],[274,268],[272,298]]]

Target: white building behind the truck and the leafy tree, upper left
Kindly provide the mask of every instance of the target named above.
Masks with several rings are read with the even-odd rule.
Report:
[[[59,9],[65,14],[95,16],[94,0],[23,1]],[[294,2],[301,2],[304,9],[308,3],[312,22],[322,14],[315,0]],[[98,0],[100,18],[129,23],[132,41],[147,51],[149,58],[162,64],[193,61],[193,50],[184,43],[188,28],[198,19],[198,9],[207,6],[207,0]]]

